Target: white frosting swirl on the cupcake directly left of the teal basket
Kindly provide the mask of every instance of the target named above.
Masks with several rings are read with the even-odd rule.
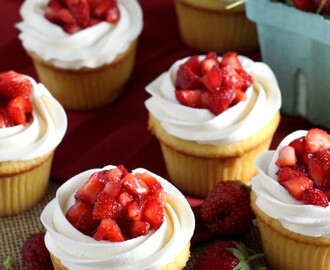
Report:
[[[176,100],[174,85],[178,67],[187,59],[175,62],[146,87],[151,97],[145,105],[169,134],[201,144],[234,143],[263,128],[280,109],[281,93],[271,69],[244,56],[239,56],[239,60],[254,79],[253,86],[246,91],[245,101],[218,116],[207,109],[181,105]]]

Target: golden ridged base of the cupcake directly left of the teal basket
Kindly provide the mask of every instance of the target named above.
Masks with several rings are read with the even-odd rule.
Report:
[[[257,170],[254,161],[268,150],[278,126],[276,116],[250,138],[231,145],[207,145],[176,138],[149,115],[149,129],[158,138],[171,182],[181,191],[205,197],[218,181],[248,183]]]

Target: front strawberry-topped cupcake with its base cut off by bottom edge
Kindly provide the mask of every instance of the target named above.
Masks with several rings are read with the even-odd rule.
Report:
[[[55,269],[183,269],[195,227],[179,190],[121,165],[69,179],[41,221]]]

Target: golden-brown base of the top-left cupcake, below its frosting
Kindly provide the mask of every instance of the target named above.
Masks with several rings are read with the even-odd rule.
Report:
[[[68,70],[45,62],[28,52],[39,80],[67,109],[89,110],[111,103],[123,90],[132,73],[137,40],[124,53],[99,68]]]

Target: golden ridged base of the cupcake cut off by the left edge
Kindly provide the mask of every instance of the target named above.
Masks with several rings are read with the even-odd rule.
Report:
[[[53,151],[28,161],[0,163],[0,217],[26,211],[47,191]]]

